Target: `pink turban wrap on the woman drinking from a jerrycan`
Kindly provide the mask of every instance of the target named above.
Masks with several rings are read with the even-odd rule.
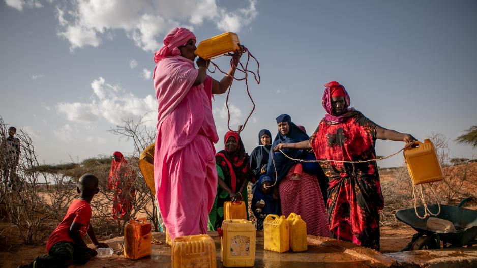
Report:
[[[168,56],[178,56],[181,55],[178,47],[184,46],[187,44],[189,39],[196,39],[194,33],[189,31],[186,28],[174,28],[172,29],[166,37],[164,37],[164,46],[161,47],[156,53],[154,53],[154,62],[158,63],[163,58]]]

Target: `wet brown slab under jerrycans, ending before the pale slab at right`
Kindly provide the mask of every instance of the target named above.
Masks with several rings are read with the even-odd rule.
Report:
[[[220,237],[217,232],[209,235],[215,241],[217,267],[220,261]],[[154,241],[161,244],[152,245],[152,254],[140,260],[127,260],[123,254],[108,258],[93,258],[88,267],[171,267],[171,247],[165,244],[163,233],[153,233]],[[105,241],[114,250],[121,248],[123,237]],[[390,267],[393,260],[379,252],[363,248],[352,243],[324,237],[308,237],[308,251],[276,253],[263,249],[263,232],[257,232],[255,267]],[[81,266],[78,266],[81,267]]]

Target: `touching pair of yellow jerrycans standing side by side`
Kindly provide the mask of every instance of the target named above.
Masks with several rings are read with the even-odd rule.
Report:
[[[263,221],[263,248],[278,253],[308,250],[307,224],[300,215],[269,214]]]

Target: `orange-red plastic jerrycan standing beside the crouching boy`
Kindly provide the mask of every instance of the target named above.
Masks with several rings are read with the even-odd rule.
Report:
[[[146,218],[130,220],[124,227],[124,257],[137,260],[151,255],[151,224]]]

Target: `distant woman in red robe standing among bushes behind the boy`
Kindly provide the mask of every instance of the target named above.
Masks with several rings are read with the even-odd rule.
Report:
[[[109,169],[108,188],[114,191],[112,215],[114,219],[128,219],[131,215],[134,199],[134,171],[121,152],[112,153]]]

